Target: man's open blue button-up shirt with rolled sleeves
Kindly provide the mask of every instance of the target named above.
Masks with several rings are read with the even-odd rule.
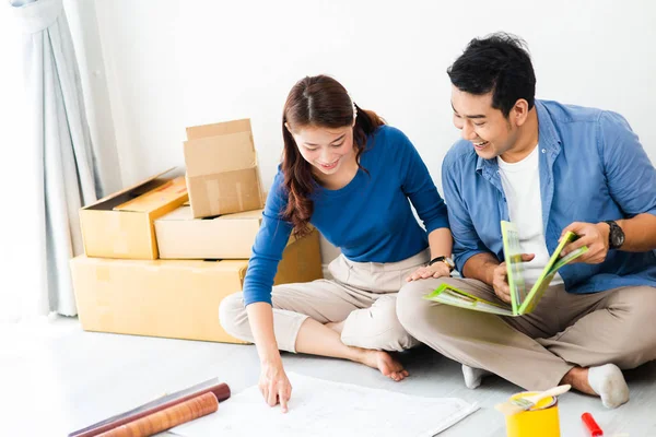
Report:
[[[656,215],[656,169],[622,116],[548,101],[536,101],[536,109],[542,225],[550,255],[573,222]],[[479,157],[471,142],[460,140],[444,160],[442,179],[458,270],[481,252],[503,261],[500,222],[509,216],[496,158]],[[559,273],[570,293],[656,286],[656,250],[610,250],[600,264],[569,264]]]

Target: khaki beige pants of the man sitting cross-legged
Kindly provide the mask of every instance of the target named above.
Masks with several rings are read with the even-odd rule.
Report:
[[[443,355],[527,390],[557,386],[574,366],[613,363],[629,369],[656,359],[655,287],[581,295],[555,285],[534,312],[504,317],[422,298],[442,282],[501,302],[491,286],[477,280],[412,282],[400,291],[397,302],[403,328]]]

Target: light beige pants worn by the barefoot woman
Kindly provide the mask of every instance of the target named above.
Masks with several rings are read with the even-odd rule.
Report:
[[[396,297],[406,276],[429,261],[426,249],[399,262],[353,262],[343,255],[328,267],[332,280],[273,287],[273,330],[278,347],[296,352],[296,335],[306,318],[320,323],[344,321],[341,340],[349,346],[403,351],[419,343],[396,316]],[[242,293],[221,302],[219,320],[231,335],[254,342]]]

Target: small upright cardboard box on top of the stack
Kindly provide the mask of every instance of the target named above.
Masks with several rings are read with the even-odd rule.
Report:
[[[263,206],[250,120],[187,128],[187,187],[195,218]]]

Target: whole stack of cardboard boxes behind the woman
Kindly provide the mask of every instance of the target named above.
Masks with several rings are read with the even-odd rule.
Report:
[[[250,123],[187,132],[186,177],[174,168],[80,211],[85,255],[71,272],[83,329],[243,343],[221,328],[219,304],[242,290],[261,223]],[[319,277],[318,233],[290,238],[274,283]]]

